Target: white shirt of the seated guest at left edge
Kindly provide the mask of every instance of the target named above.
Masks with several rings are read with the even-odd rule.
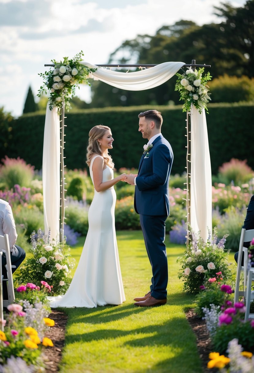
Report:
[[[4,234],[9,236],[10,251],[12,251],[18,237],[16,226],[9,203],[0,199],[0,235]]]

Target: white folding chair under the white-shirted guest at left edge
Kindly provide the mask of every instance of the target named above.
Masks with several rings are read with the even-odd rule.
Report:
[[[0,250],[5,253],[6,255],[6,270],[7,270],[7,278],[3,278],[1,275],[1,301],[2,307],[7,307],[7,305],[13,303],[15,300],[15,295],[14,295],[14,288],[13,288],[13,278],[12,278],[12,263],[10,261],[10,245],[9,245],[9,237],[7,234],[4,236],[0,236]],[[1,256],[1,261],[2,261],[2,256]],[[1,263],[2,264],[2,263]],[[1,270],[2,270],[2,265],[1,265]],[[3,281],[7,281],[7,293],[8,293],[8,299],[3,300]],[[1,310],[0,310],[1,312]]]

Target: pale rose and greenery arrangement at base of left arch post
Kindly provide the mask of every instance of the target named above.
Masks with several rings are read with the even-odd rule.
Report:
[[[50,244],[50,232],[47,243],[40,229],[37,235],[37,240],[35,232],[31,235],[32,255],[20,267],[20,273],[15,278],[16,284],[32,282],[47,289],[50,295],[65,294],[72,280],[69,270],[74,267],[74,259],[69,254],[70,248],[65,241],[53,241]]]

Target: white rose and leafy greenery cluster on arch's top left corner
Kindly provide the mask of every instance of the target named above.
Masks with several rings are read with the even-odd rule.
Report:
[[[91,69],[80,63],[83,61],[82,56],[84,56],[83,51],[77,53],[72,59],[64,57],[60,62],[51,60],[55,64],[54,69],[38,74],[43,78],[44,84],[38,90],[37,96],[40,97],[42,93],[50,91],[50,110],[57,107],[60,112],[64,101],[66,109],[69,111],[71,108],[69,100],[75,96],[76,87],[79,88],[79,84],[91,85],[88,82],[88,77],[96,69]]]

